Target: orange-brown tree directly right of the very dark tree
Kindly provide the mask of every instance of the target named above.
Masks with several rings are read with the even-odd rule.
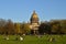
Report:
[[[62,26],[61,26],[61,21],[53,21],[51,22],[51,28],[52,28],[52,33],[53,34],[61,34],[61,30],[62,30]]]

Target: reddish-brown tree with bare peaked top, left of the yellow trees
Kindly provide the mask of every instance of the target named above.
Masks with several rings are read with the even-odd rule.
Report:
[[[11,20],[4,25],[4,34],[14,34],[14,24]]]

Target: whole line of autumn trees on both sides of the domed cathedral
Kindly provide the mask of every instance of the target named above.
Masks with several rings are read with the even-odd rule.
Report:
[[[30,23],[0,19],[0,34],[31,34]],[[66,34],[66,20],[51,20],[38,26],[40,34]]]

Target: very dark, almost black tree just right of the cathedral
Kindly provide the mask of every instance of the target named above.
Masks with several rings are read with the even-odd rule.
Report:
[[[38,32],[41,34],[44,34],[44,33],[48,33],[51,32],[51,26],[50,26],[50,23],[42,23],[38,28]]]

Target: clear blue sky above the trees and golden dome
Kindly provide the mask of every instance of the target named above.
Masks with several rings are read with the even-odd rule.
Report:
[[[0,0],[0,19],[28,22],[33,10],[40,21],[66,19],[66,0]]]

